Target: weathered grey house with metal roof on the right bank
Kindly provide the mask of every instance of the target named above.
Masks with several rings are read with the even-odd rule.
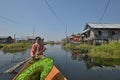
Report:
[[[118,40],[120,24],[87,23],[81,35],[89,40]]]

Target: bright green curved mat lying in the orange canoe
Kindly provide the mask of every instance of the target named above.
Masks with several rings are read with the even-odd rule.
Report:
[[[42,58],[25,69],[16,80],[44,80],[53,65],[54,61],[52,58]]]

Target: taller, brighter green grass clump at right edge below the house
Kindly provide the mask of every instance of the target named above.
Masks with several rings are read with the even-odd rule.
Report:
[[[94,46],[89,55],[92,57],[120,59],[120,42],[110,42],[101,46]]]

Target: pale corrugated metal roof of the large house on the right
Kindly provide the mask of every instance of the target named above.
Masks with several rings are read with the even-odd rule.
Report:
[[[120,24],[105,24],[105,23],[88,23],[91,28],[117,28],[120,29]]]

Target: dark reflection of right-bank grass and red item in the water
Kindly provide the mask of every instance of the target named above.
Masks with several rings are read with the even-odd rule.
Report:
[[[81,53],[80,51],[73,51],[71,52],[71,59],[72,60],[78,60],[78,61],[84,61],[86,64],[87,69],[100,67],[100,68],[106,68],[106,67],[112,67],[117,69],[120,68],[120,59],[104,59],[104,58],[91,58],[86,53]]]

